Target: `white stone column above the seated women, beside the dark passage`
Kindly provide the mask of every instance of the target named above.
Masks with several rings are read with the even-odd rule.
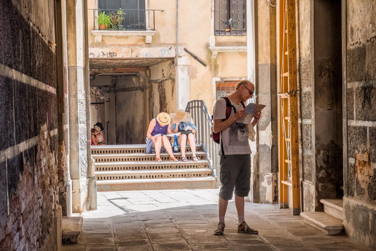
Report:
[[[190,64],[191,59],[188,56],[182,56],[177,59],[177,65],[175,66],[176,109],[185,110],[187,103],[191,100]]]

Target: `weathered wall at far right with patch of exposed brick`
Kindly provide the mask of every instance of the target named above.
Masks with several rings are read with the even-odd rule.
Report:
[[[376,248],[376,1],[347,1],[347,158],[344,158],[346,233]]]

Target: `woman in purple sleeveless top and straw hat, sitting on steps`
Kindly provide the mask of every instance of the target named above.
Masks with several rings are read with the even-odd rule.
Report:
[[[159,113],[155,119],[149,123],[146,133],[146,153],[155,154],[155,161],[162,162],[160,154],[170,155],[170,161],[176,162],[171,148],[170,137],[163,134],[172,134],[171,118],[168,113]],[[163,145],[163,146],[162,146]]]

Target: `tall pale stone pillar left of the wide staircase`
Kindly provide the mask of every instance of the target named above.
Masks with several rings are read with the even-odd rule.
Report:
[[[89,75],[85,0],[67,0],[69,162],[73,212],[96,209],[89,143]]]

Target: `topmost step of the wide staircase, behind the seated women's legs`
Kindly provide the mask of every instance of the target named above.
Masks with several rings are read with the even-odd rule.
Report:
[[[202,151],[202,146],[196,144],[196,151]],[[146,145],[105,145],[105,146],[91,146],[91,154],[140,154],[146,152]],[[180,146],[179,146],[180,152]],[[185,152],[191,152],[189,146],[186,147]]]

